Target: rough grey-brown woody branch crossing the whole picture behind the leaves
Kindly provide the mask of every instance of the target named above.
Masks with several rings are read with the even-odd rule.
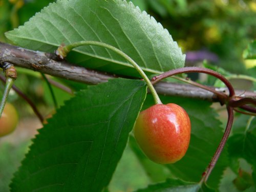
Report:
[[[84,82],[87,84],[98,84],[101,82],[106,82],[110,78],[116,77],[115,75],[75,66],[74,64],[65,60],[57,61],[57,59],[54,59],[56,59],[54,54],[31,51],[0,42],[0,64],[8,61],[18,67],[31,69],[56,77]],[[201,88],[190,86],[189,84],[158,82],[155,84],[155,89],[159,94],[163,95],[217,101],[215,94]],[[226,92],[228,94],[226,89],[218,91]],[[249,91],[244,92],[236,90],[236,95],[241,98],[256,97],[255,93]]]

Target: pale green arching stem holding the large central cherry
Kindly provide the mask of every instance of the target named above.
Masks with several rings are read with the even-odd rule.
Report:
[[[129,61],[131,63],[131,65],[139,72],[139,74],[142,76],[142,78],[144,79],[144,81],[146,82],[148,88],[150,89],[155,103],[156,104],[161,104],[161,100],[155,90],[155,88],[153,87],[153,84],[151,83],[150,79],[148,79],[148,77],[146,76],[146,74],[144,73],[144,71],[139,67],[139,65],[128,55],[126,55],[124,52],[122,52],[121,50],[109,45],[109,44],[105,44],[104,42],[99,42],[99,41],[79,41],[79,42],[74,42],[73,44],[67,45],[67,46],[60,46],[58,47],[58,49],[56,50],[55,54],[57,56],[59,56],[61,59],[65,58],[67,56],[67,54],[74,48],[80,47],[80,46],[99,46],[99,47],[103,47],[106,49],[110,49],[112,51],[114,51],[115,53],[119,54],[120,56],[122,56],[124,59],[126,59],[127,61]]]

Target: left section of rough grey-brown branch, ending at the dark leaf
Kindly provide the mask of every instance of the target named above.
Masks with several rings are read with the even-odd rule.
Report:
[[[88,84],[108,81],[113,75],[88,70],[62,60],[56,61],[53,54],[31,51],[0,42],[0,63],[9,61],[13,65]]]

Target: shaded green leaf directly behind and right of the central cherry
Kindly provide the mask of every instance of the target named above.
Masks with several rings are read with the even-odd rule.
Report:
[[[161,97],[163,103],[177,103],[186,110],[191,121],[191,139],[186,155],[177,163],[165,165],[172,175],[185,181],[198,182],[208,166],[223,135],[221,122],[217,113],[210,108],[211,103],[203,100]],[[147,97],[143,109],[153,102]],[[216,188],[225,167],[228,165],[227,152],[221,154],[207,184]]]

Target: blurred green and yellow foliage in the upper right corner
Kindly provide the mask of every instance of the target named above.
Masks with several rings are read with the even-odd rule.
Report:
[[[256,1],[133,2],[154,16],[172,34],[183,52],[207,50],[219,57],[216,65],[232,73],[246,73],[242,53],[256,38]]]

